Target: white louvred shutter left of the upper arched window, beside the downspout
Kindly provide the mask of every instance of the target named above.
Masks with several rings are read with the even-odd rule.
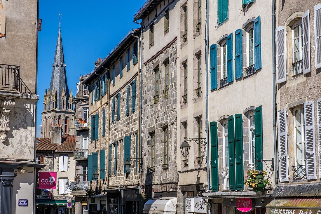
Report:
[[[276,41],[276,82],[286,82],[286,49],[285,49],[285,27],[279,26],[275,29]]]

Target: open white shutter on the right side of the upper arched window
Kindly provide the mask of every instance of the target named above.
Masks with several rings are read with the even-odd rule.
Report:
[[[302,27],[303,27],[303,74],[306,74],[311,71],[309,10],[307,10],[302,16]]]

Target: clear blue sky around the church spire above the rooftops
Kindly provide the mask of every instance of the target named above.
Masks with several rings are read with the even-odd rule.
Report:
[[[90,73],[98,57],[105,58],[128,31],[139,27],[133,22],[133,17],[144,2],[145,0],[39,0],[42,26],[38,44],[37,137],[40,137],[39,125],[45,89],[50,86],[59,13],[68,87],[74,93],[80,75]]]

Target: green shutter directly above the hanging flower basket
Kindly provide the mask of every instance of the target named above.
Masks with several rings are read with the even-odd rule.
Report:
[[[255,124],[255,160],[256,169],[263,170],[263,120],[262,120],[262,106],[259,106],[254,111]]]

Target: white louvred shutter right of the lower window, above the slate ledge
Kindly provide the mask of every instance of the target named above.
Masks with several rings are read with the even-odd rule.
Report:
[[[316,179],[314,101],[304,103],[304,126],[307,179]]]

